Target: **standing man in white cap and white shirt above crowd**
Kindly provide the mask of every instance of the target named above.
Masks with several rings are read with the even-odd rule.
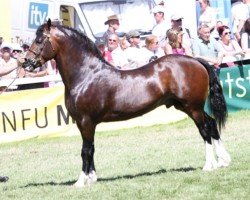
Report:
[[[166,32],[170,29],[170,23],[167,23],[164,14],[165,14],[165,7],[162,5],[156,5],[152,9],[152,13],[154,14],[155,18],[155,26],[152,28],[152,35],[158,37],[158,42],[161,47],[164,46]]]

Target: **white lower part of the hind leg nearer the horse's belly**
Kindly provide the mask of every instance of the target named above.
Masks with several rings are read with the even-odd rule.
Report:
[[[203,167],[203,170],[213,171],[214,169],[217,169],[217,161],[215,160],[215,157],[214,157],[213,145],[209,144],[206,141],[205,147],[206,147],[206,162]]]

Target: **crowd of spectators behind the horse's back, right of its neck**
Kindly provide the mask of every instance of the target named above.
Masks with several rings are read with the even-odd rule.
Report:
[[[117,41],[119,40],[118,36],[115,40],[107,37],[110,30],[112,30],[112,37],[114,37],[120,25],[117,15],[108,17],[105,24],[108,24],[109,27],[103,40],[108,41],[104,49],[108,49],[109,56],[104,53],[105,59],[108,58],[106,59],[108,62],[121,69],[140,67],[166,54],[203,58],[215,68],[220,68],[222,63],[231,67],[235,65],[235,61],[246,59],[250,52],[250,1],[238,0],[232,4],[232,30],[230,24],[217,19],[216,10],[211,7],[209,0],[197,1],[201,13],[198,18],[196,37],[192,37],[190,30],[183,27],[184,18],[180,14],[173,14],[170,21],[165,19],[167,9],[164,6],[164,1],[160,1],[152,9],[155,25],[152,27],[152,34],[143,41],[137,30],[130,30],[126,34],[127,43],[124,42],[124,37],[120,43]],[[240,9],[241,11],[239,11]],[[117,51],[119,49],[121,60],[117,60],[117,55],[114,55],[114,52],[117,51],[112,52],[113,50],[111,50],[113,43],[116,43]]]

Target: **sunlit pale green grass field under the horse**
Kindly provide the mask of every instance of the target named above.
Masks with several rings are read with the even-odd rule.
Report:
[[[250,111],[229,115],[222,140],[228,168],[203,172],[204,143],[190,119],[96,134],[99,181],[71,185],[81,170],[81,138],[32,139],[0,145],[0,198],[250,199]]]

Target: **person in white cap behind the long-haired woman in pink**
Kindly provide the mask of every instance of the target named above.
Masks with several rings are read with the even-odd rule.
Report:
[[[171,29],[175,31],[182,31],[182,42],[189,48],[192,46],[193,38],[191,37],[190,31],[188,28],[183,27],[183,17],[179,14],[174,14],[171,16]]]

